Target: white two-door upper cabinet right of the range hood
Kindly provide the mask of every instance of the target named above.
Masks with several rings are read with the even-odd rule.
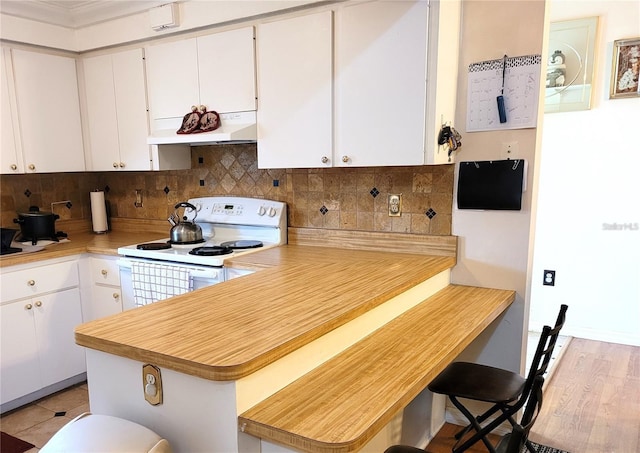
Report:
[[[258,166],[448,162],[459,21],[457,0],[374,1],[260,24]]]

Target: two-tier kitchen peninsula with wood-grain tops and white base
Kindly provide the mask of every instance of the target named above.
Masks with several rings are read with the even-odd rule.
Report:
[[[420,255],[289,239],[228,263],[251,275],[79,326],[91,410],[148,426],[177,452],[381,451],[402,409],[514,300],[449,285],[455,246]],[[145,401],[146,363],[161,370],[160,405]]]

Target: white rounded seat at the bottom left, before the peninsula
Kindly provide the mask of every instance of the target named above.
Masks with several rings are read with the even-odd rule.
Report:
[[[62,427],[40,453],[172,453],[155,432],[110,415],[85,412]]]

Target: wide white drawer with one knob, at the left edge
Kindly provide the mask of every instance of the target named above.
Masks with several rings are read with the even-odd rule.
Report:
[[[2,302],[33,297],[50,291],[78,286],[76,261],[48,264],[15,272],[2,272]]]

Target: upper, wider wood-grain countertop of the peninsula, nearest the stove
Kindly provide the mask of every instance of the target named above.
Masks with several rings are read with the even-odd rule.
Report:
[[[286,245],[259,272],[80,325],[76,343],[209,380],[235,380],[415,285],[454,257]]]

